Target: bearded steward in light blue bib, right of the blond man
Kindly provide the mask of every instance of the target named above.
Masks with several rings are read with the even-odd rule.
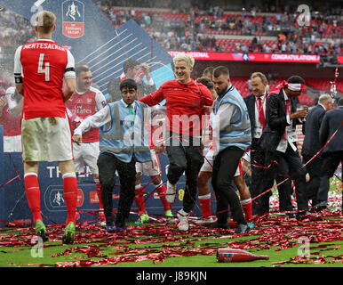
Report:
[[[211,184],[217,197],[217,221],[212,227],[230,227],[227,223],[229,209],[237,223],[235,233],[249,232],[250,227],[232,183],[244,151],[251,144],[249,113],[241,94],[231,85],[227,67],[213,69],[212,81],[218,94],[212,118],[215,150]]]

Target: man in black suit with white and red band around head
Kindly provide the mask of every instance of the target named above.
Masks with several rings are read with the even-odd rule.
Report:
[[[310,216],[306,195],[306,174],[296,146],[296,124],[307,116],[308,108],[297,110],[295,100],[305,85],[303,78],[290,77],[284,82],[279,94],[269,94],[267,98],[266,129],[259,139],[260,147],[266,151],[265,164],[275,165],[281,169],[288,168],[294,180],[298,206],[298,218]],[[266,177],[262,183],[267,183]]]

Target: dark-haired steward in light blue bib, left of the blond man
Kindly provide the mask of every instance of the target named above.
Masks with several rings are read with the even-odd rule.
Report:
[[[74,131],[73,140],[82,143],[82,134],[92,127],[100,128],[99,180],[108,232],[125,230],[125,219],[135,195],[136,162],[151,160],[148,146],[149,109],[145,103],[136,101],[137,84],[125,79],[120,84],[122,99],[109,103],[84,121]],[[120,180],[120,198],[113,223],[112,192],[116,172]]]

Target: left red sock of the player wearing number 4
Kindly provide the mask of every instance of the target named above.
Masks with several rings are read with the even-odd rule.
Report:
[[[38,176],[34,172],[30,172],[24,175],[25,192],[28,199],[28,207],[31,210],[34,218],[34,224],[36,220],[41,220],[41,191],[38,184]]]

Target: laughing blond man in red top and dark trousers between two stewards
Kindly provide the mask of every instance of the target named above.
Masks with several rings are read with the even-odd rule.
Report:
[[[178,213],[179,230],[188,230],[189,212],[194,208],[197,175],[203,165],[203,146],[200,141],[204,106],[211,106],[213,99],[208,88],[191,79],[195,60],[187,53],[173,58],[177,79],[164,82],[153,94],[140,99],[148,106],[165,100],[166,127],[170,140],[166,141],[169,158],[166,199],[173,203],[176,198],[179,177],[185,172],[186,190],[183,208]]]

